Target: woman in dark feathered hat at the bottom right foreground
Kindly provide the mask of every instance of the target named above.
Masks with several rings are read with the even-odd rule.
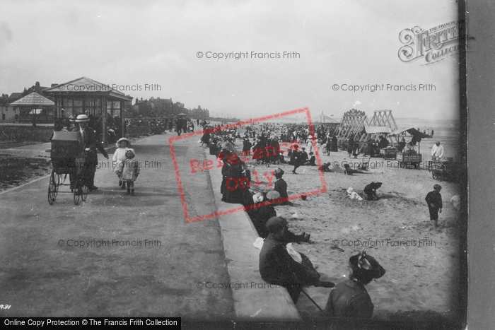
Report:
[[[383,275],[385,269],[365,251],[350,257],[349,279],[330,291],[325,314],[330,317],[371,319],[374,306],[364,285]]]

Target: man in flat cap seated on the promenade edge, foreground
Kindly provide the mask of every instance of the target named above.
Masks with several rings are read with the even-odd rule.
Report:
[[[284,244],[287,231],[287,221],[284,218],[269,218],[266,228],[269,235],[260,252],[260,275],[264,281],[286,288],[294,304],[304,285],[334,287],[332,282],[320,281],[320,274],[315,271],[308,257],[301,253],[301,264],[292,259]]]

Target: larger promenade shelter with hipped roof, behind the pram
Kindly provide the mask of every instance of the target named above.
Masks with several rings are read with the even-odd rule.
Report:
[[[132,102],[131,96],[86,77],[60,83],[43,90],[43,93],[54,98],[55,124],[64,118],[69,118],[72,114],[76,116],[78,114],[88,114],[98,122],[97,131],[99,132],[106,132],[108,120],[110,118],[112,120],[115,116],[119,116],[120,127],[124,127],[124,105],[125,102]],[[106,134],[101,135],[101,139],[106,145]],[[124,129],[121,129],[120,136],[117,136],[117,138],[123,135]]]

